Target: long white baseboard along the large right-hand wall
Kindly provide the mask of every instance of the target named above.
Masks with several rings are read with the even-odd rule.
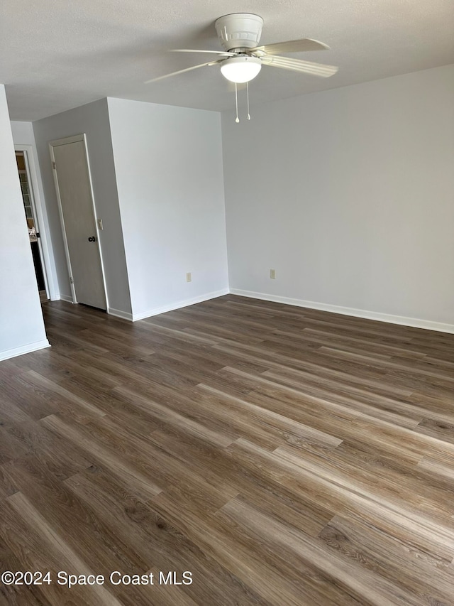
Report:
[[[388,322],[390,324],[400,324],[402,326],[412,326],[414,328],[425,328],[426,330],[438,330],[438,332],[454,333],[454,324],[443,324],[442,322],[433,322],[432,320],[419,320],[419,318],[406,318],[404,315],[392,315],[389,313],[379,313],[364,309],[341,307],[340,305],[329,305],[328,303],[317,303],[316,301],[303,301],[302,299],[279,297],[277,295],[269,295],[266,293],[242,291],[238,290],[237,288],[231,288],[230,292],[232,295],[238,295],[240,297],[250,297],[253,299],[261,299],[262,301],[284,303],[284,305],[295,305],[297,307],[331,311],[332,313],[353,315],[355,318],[367,318],[367,320],[378,320],[379,322]]]

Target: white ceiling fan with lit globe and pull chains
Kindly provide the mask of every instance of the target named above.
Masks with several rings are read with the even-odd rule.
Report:
[[[287,42],[277,42],[274,44],[265,44],[258,46],[260,36],[262,34],[263,19],[258,15],[251,13],[233,13],[216,19],[214,26],[218,38],[224,50],[196,50],[192,48],[177,48],[175,53],[206,53],[218,55],[218,59],[200,63],[187,67],[184,70],[178,70],[170,74],[165,74],[147,80],[145,84],[157,82],[165,78],[183,74],[197,70],[199,67],[211,65],[219,65],[221,74],[227,80],[237,85],[253,80],[260,70],[262,65],[269,67],[280,67],[283,70],[291,70],[314,76],[329,77],[338,71],[338,67],[333,65],[324,65],[323,63],[312,63],[311,61],[303,61],[301,59],[292,59],[280,56],[280,53],[300,53],[306,50],[329,50],[329,46],[311,40],[311,38],[301,38],[301,40],[289,40]],[[250,119],[248,112],[248,119]],[[238,122],[238,100],[237,100],[237,117]]]

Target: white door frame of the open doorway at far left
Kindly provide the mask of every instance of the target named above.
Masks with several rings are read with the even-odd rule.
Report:
[[[41,266],[43,267],[43,276],[45,284],[45,293],[48,299],[55,301],[58,296],[55,291],[55,285],[52,278],[50,252],[49,252],[49,237],[46,229],[46,223],[43,215],[43,205],[41,203],[38,173],[36,172],[35,158],[33,158],[33,146],[26,144],[16,144],[14,151],[21,151],[26,165],[28,176],[28,187],[30,188],[31,208],[33,212],[33,220],[35,222],[36,231],[39,232],[38,249],[40,251]]]

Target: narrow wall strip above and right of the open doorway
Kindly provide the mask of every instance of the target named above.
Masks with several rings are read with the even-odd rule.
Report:
[[[57,289],[57,270],[55,269],[55,260],[52,251],[52,241],[50,239],[50,228],[48,221],[48,213],[44,202],[43,181],[41,180],[40,166],[38,161],[38,153],[36,151],[35,135],[33,134],[33,124],[31,122],[11,122],[11,131],[13,133],[13,142],[15,146],[21,148],[31,148],[31,158],[28,158],[31,170],[34,168],[35,189],[33,195],[35,197],[37,220],[40,227],[41,249],[43,250],[46,278],[48,281],[49,295],[52,300],[60,298],[60,293]]]

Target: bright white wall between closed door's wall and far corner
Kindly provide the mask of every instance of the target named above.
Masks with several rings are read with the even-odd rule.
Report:
[[[133,318],[226,293],[219,114],[108,101]]]

